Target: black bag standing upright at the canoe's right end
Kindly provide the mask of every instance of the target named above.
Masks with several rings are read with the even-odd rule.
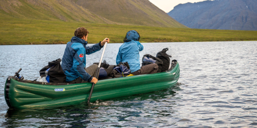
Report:
[[[165,71],[169,70],[169,67],[170,67],[171,55],[168,55],[166,53],[168,50],[169,50],[168,48],[162,49],[162,51],[160,51],[156,54],[156,57],[161,59],[163,62],[161,72],[165,72]]]

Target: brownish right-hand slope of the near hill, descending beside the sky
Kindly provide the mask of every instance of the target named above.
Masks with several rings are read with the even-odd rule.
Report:
[[[73,0],[78,5],[120,25],[187,28],[148,0]]]

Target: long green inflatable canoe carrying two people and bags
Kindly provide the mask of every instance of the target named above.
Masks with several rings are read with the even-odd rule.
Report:
[[[90,102],[164,90],[175,86],[179,78],[178,62],[167,72],[99,80]],[[5,100],[9,108],[28,109],[86,102],[92,83],[45,83],[9,76]]]

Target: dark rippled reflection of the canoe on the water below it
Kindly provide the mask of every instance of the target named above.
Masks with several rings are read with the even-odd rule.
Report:
[[[130,122],[139,125],[142,122],[150,120],[147,117],[140,120],[135,117],[151,117],[152,114],[155,116],[168,116],[171,114],[172,109],[167,109],[166,105],[170,107],[174,103],[161,100],[167,97],[167,94],[169,95],[168,97],[175,96],[174,91],[163,90],[160,92],[110,99],[108,101],[97,101],[89,106],[84,102],[78,105],[42,109],[9,109],[6,112],[6,120],[2,126],[80,127],[92,125],[98,127],[103,124],[105,126],[130,126],[128,125]],[[161,104],[158,102],[161,102]],[[151,105],[152,110],[148,109],[148,105]],[[137,121],[135,122],[135,120]],[[38,125],[35,125],[37,123]]]

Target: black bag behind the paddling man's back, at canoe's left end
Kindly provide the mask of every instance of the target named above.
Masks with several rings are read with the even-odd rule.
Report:
[[[61,67],[61,59],[48,62],[48,66],[45,66],[39,71],[40,76],[47,75],[46,80],[49,78],[49,82],[65,83],[66,75]]]

